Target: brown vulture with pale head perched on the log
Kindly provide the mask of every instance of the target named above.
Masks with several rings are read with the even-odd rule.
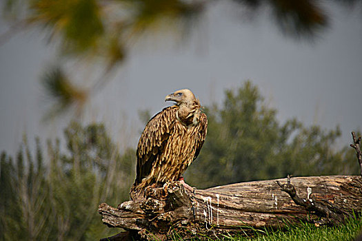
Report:
[[[139,138],[134,189],[183,182],[183,172],[197,158],[205,140],[208,118],[190,90],[178,90],[165,101],[175,105],[153,116]]]

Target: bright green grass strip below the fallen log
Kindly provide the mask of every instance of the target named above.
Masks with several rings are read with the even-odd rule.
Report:
[[[301,223],[296,226],[288,226],[284,231],[276,230],[270,231],[268,229],[254,229],[254,233],[250,237],[238,236],[225,236],[222,240],[225,241],[311,241],[311,240],[325,240],[325,241],[352,241],[357,235],[362,232],[361,218],[350,218],[343,225],[336,225],[333,227],[315,227],[314,224]],[[182,241],[182,238],[174,238],[174,241]],[[194,239],[197,241],[199,239]],[[204,240],[204,238],[203,238]],[[215,240],[209,238],[208,240]]]

